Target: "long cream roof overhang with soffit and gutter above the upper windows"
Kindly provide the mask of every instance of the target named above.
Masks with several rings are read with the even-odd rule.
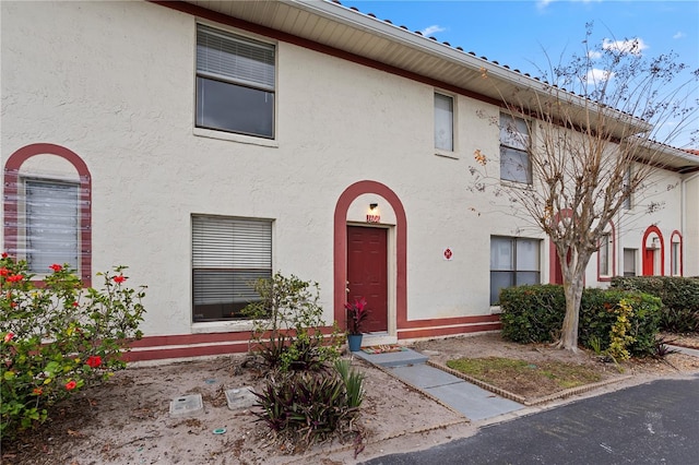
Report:
[[[157,3],[177,8],[173,5],[177,2]],[[505,105],[507,96],[518,95],[520,102],[517,104],[524,105],[533,114],[546,102],[568,104],[580,109],[578,114],[581,124],[584,121],[594,124],[595,118],[604,115],[605,130],[618,139],[651,129],[645,121],[631,115],[599,106],[585,97],[552,87],[548,83],[519,70],[511,70],[497,61],[424,37],[418,32],[411,32],[404,26],[394,25],[388,20],[381,21],[337,2],[190,0],[185,3],[198,7],[201,9],[199,11],[209,10],[307,40],[309,44],[319,44],[330,50],[348,53],[350,57],[382,63],[387,69],[402,70],[410,75],[424,78],[425,82],[441,84],[446,90],[463,91],[465,95],[494,104]],[[484,79],[484,75],[488,79]],[[687,166],[694,167],[691,162],[699,158],[679,150],[664,147],[667,152],[664,155],[666,165],[674,169],[684,167],[685,162],[688,162]],[[671,160],[676,156],[676,160]]]

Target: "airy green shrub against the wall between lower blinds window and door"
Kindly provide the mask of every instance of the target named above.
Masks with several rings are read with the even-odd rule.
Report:
[[[318,284],[275,273],[258,279],[254,290],[261,300],[248,305],[244,314],[253,320],[252,351],[271,368],[315,370],[340,357],[340,330],[335,325],[323,336],[322,308],[318,305]]]

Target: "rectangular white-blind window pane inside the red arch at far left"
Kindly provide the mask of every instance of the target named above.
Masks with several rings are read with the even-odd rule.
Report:
[[[75,184],[27,180],[25,243],[29,271],[47,274],[49,266],[78,270],[79,189]]]

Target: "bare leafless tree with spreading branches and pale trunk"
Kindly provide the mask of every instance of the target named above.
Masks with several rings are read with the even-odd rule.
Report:
[[[537,82],[506,85],[483,71],[502,100],[499,176],[477,150],[472,190],[493,191],[555,245],[566,295],[558,347],[577,350],[584,273],[609,222],[640,198],[672,144],[697,128],[699,70],[673,53],[647,58],[642,41],[590,44]],[[686,82],[677,85],[678,76]],[[691,102],[694,93],[695,102]],[[694,129],[691,140],[696,141]],[[649,208],[656,207],[652,202]]]

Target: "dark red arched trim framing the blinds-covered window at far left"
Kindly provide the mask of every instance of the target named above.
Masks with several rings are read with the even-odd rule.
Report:
[[[4,196],[16,199],[20,168],[27,159],[36,155],[56,155],[75,167],[80,176],[82,206],[80,211],[80,277],[85,286],[92,286],[92,176],[85,162],[74,152],[56,144],[38,143],[26,145],[14,152],[4,164]],[[17,247],[17,203],[3,202],[4,211],[4,251],[12,253]]]

